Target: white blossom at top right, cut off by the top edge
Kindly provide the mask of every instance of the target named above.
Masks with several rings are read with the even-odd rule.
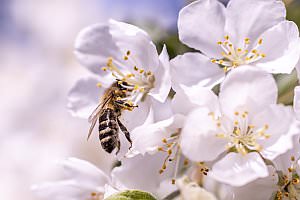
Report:
[[[290,73],[300,53],[295,23],[285,20],[281,1],[198,0],[179,13],[180,40],[200,53],[173,59],[174,87],[212,86],[224,72],[251,65],[270,73]],[[211,63],[210,63],[211,62]],[[195,72],[195,73],[190,73]]]

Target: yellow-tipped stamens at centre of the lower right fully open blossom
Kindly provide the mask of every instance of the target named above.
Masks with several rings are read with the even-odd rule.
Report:
[[[220,131],[216,136],[228,140],[226,149],[243,155],[251,151],[261,151],[262,146],[258,141],[270,138],[271,135],[266,133],[269,126],[265,124],[263,127],[256,127],[250,124],[247,111],[234,112],[234,116],[233,122],[227,122],[221,118],[215,119]]]

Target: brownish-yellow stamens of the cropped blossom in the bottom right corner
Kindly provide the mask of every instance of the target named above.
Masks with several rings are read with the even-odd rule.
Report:
[[[296,171],[299,169],[298,160],[291,156],[291,166],[288,168],[287,174],[279,176],[276,200],[300,199],[300,177]]]

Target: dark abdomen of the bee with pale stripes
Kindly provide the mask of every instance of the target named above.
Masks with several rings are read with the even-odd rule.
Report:
[[[116,147],[120,146],[118,135],[117,116],[115,112],[107,108],[99,117],[99,139],[102,148],[111,153]]]

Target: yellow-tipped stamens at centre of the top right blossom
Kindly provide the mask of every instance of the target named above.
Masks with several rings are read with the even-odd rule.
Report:
[[[250,49],[250,39],[244,39],[243,47],[235,47],[229,39],[229,36],[224,37],[224,41],[219,41],[217,44],[223,50],[221,52],[223,59],[211,59],[211,62],[217,63],[224,67],[227,72],[240,65],[250,64],[266,57],[264,53],[259,52],[257,49],[262,45],[263,40],[260,38],[257,44]]]

